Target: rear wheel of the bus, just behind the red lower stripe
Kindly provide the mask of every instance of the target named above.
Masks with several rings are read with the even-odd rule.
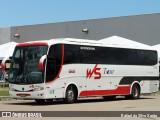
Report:
[[[126,95],[126,99],[138,99],[140,97],[140,86],[138,84],[134,84],[132,86],[132,91],[130,95]]]

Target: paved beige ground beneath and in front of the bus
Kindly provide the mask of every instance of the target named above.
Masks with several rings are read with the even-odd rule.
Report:
[[[125,100],[124,97],[118,97],[114,101],[104,101],[101,97],[93,97],[88,99],[83,98],[79,99],[77,103],[74,104],[63,104],[62,101],[46,102],[43,105],[36,104],[33,100],[0,101],[0,111],[64,111],[59,113],[61,115],[59,115],[57,119],[63,119],[64,117],[65,119],[69,119],[69,117],[63,115],[65,111],[160,111],[159,106],[160,95],[141,96],[141,98],[138,100]],[[77,114],[80,114],[80,112]],[[91,119],[91,117],[94,117],[94,119],[98,120],[105,119],[99,117],[98,113],[97,117],[95,117],[95,114],[93,116],[89,114],[89,117],[85,118]],[[61,116],[63,118],[61,118]],[[71,116],[71,119],[73,119],[73,117]],[[130,116],[122,116],[121,118],[115,119],[122,119],[123,117],[125,117],[125,119],[134,119]],[[82,116],[82,118],[79,119],[83,118],[84,117]],[[156,116],[152,116],[152,118],[140,116],[139,119],[158,120],[159,118]]]

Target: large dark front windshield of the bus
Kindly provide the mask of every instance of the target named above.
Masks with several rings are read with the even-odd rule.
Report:
[[[44,71],[39,70],[39,60],[47,53],[47,46],[18,46],[11,60],[9,80],[14,84],[44,83]]]

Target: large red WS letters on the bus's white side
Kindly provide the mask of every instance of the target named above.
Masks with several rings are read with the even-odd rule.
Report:
[[[101,78],[101,73],[100,73],[101,68],[98,68],[97,66],[98,64],[96,64],[93,69],[87,69],[86,78],[91,78],[93,74],[95,75],[94,79]]]

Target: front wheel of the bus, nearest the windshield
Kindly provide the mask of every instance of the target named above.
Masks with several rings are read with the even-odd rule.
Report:
[[[67,104],[72,104],[77,100],[76,88],[74,86],[69,86],[66,90],[64,102]]]

